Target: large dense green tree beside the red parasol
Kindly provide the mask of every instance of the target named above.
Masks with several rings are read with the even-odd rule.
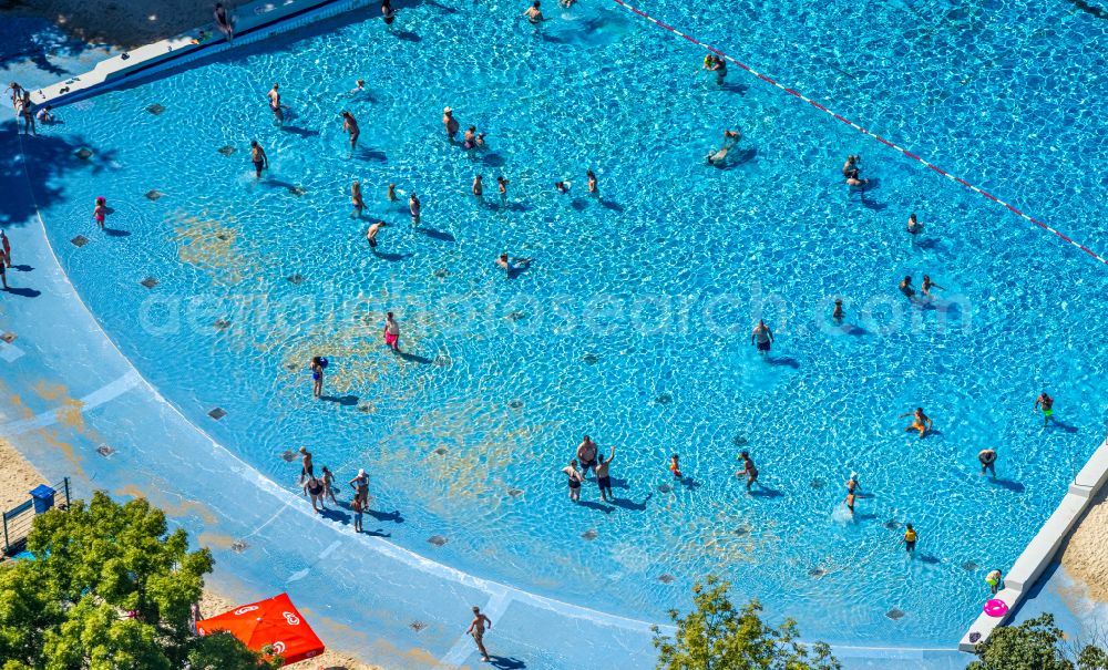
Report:
[[[189,553],[185,532],[168,533],[146,501],[96,493],[89,505],[52,509],[34,519],[27,546],[34,560],[0,569],[0,670],[259,667],[230,636],[189,631],[212,555]]]

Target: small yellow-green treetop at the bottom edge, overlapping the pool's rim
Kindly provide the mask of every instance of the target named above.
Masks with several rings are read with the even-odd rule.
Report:
[[[694,609],[669,618],[677,627],[670,638],[655,627],[658,670],[838,670],[839,661],[823,642],[810,647],[797,641],[797,622],[778,627],[761,620],[757,600],[736,609],[730,584],[708,577],[693,587]]]

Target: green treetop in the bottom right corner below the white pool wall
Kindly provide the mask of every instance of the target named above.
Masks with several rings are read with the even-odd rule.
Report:
[[[1108,653],[1094,645],[1080,649],[1065,645],[1049,614],[997,628],[975,653],[978,660],[966,670],[1108,670]]]

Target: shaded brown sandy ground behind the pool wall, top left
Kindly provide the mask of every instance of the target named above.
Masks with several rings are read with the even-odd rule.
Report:
[[[223,0],[229,9],[245,3]],[[47,19],[78,39],[122,49],[212,23],[214,9],[214,0],[0,0],[4,13]]]

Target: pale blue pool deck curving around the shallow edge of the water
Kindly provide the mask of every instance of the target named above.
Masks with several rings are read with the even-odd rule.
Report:
[[[11,131],[9,123],[2,132]],[[30,198],[25,181],[6,182],[4,189]],[[386,667],[475,666],[472,642],[461,635],[472,605],[494,620],[489,646],[501,659],[496,667],[654,666],[647,622],[458,573],[383,538],[356,536],[341,519],[317,523],[304,499],[224,450],[145,383],[84,308],[37,216],[8,231],[16,265],[31,269],[9,275],[25,290],[0,303],[0,331],[16,334],[0,344],[9,371],[0,386],[0,434],[48,480],[74,476],[79,496],[103,488],[150,498],[213,549],[220,590],[244,601],[288,590],[329,646]],[[104,446],[106,455],[98,452]],[[394,523],[367,528],[387,534]],[[1065,578],[1048,568],[1029,594]],[[1029,595],[1017,620],[1037,598]],[[1047,597],[1038,602],[1057,605]],[[962,668],[971,657],[955,643],[834,651],[847,668]]]

